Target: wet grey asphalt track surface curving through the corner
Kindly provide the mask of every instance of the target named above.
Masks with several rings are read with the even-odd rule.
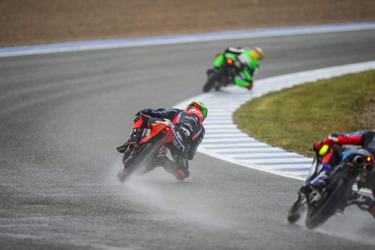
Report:
[[[121,184],[115,150],[139,109],[200,94],[225,46],[261,46],[260,79],[374,60],[374,37],[365,30],[0,58],[0,249],[374,249],[375,221],[356,207],[314,231],[289,224],[300,180],[197,153],[185,181],[159,168]]]

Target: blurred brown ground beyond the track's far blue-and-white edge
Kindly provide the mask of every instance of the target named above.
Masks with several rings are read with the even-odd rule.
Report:
[[[375,21],[374,0],[0,0],[0,46]]]

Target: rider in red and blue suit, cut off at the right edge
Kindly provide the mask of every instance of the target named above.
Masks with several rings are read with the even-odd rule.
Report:
[[[352,134],[331,134],[326,139],[314,144],[314,150],[321,156],[321,164],[317,167],[316,177],[305,184],[305,188],[313,186],[321,189],[326,186],[326,179],[333,171],[333,167],[338,165],[342,159],[344,149],[335,145],[360,145],[375,155],[375,129],[374,131],[356,132]],[[375,196],[375,175],[367,179],[362,179],[357,183],[359,188],[371,189]],[[363,211],[369,211],[375,217],[375,202],[371,197],[361,195],[352,191],[347,201],[347,206],[356,204]]]

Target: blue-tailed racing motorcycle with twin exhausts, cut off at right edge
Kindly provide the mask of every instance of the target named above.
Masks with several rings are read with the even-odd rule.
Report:
[[[290,223],[297,222],[307,211],[307,228],[314,229],[323,224],[337,212],[344,211],[355,183],[374,174],[374,156],[369,151],[358,147],[343,148],[345,151],[342,160],[328,176],[326,187],[319,190],[310,186],[308,190],[305,187],[299,190],[298,199],[288,213]],[[318,163],[318,156],[315,154],[306,183],[314,177]],[[361,186],[358,187],[360,189]]]

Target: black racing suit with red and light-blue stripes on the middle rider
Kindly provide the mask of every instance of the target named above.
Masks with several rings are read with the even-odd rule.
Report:
[[[172,154],[174,162],[167,159],[166,163],[162,166],[174,171],[177,163],[177,169],[187,174],[189,169],[188,160],[193,159],[195,151],[205,133],[202,125],[202,112],[195,107],[187,111],[176,108],[152,110],[149,115],[142,115],[142,117],[136,121],[134,127],[140,127],[141,129],[148,127],[152,129],[155,124],[160,122],[160,120],[155,118],[168,119],[174,124],[174,137],[171,142],[166,144]]]

